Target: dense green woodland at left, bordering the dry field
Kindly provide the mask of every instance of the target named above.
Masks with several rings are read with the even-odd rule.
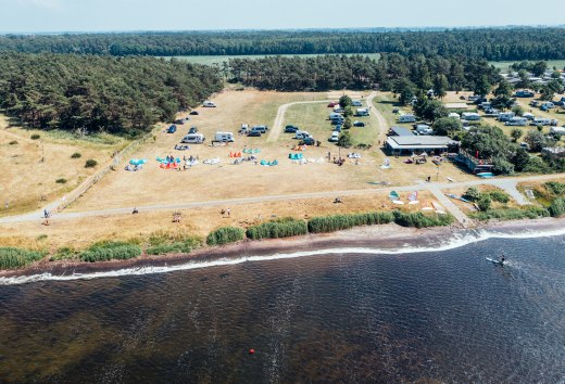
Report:
[[[0,107],[36,128],[135,136],[222,87],[217,69],[175,60],[0,54]]]

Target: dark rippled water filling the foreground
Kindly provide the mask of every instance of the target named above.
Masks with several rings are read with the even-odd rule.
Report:
[[[564,383],[565,236],[0,286],[0,377]]]

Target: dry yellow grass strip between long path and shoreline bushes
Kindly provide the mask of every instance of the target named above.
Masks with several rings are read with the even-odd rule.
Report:
[[[407,193],[402,193],[405,200]],[[143,213],[109,217],[88,217],[76,220],[56,218],[46,227],[37,222],[0,225],[0,246],[47,247],[51,251],[62,246],[87,247],[100,240],[147,239],[154,232],[183,232],[204,238],[218,227],[249,227],[272,218],[310,218],[341,213],[359,213],[398,208],[391,204],[387,193],[352,195],[342,197],[343,204],[334,204],[332,199],[293,200],[285,203],[263,202],[230,206],[229,217],[221,214],[218,207],[181,210],[180,223],[172,222],[173,212]],[[417,210],[430,206],[434,197],[423,191],[418,195],[420,204],[403,205],[403,210]],[[385,207],[384,207],[385,205]]]

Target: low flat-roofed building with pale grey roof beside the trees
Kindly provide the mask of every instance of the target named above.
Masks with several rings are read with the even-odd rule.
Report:
[[[443,153],[450,148],[459,146],[447,136],[391,136],[387,139],[385,148],[392,155],[411,155],[412,153],[435,152]]]

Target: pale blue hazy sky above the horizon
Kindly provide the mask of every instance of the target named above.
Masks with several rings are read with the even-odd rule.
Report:
[[[563,1],[531,4],[525,0],[0,0],[0,33],[565,24]]]

